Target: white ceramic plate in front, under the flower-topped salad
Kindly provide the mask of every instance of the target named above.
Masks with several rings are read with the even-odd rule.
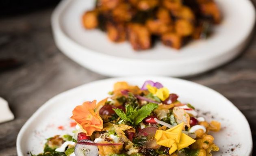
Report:
[[[161,82],[172,93],[177,93],[181,102],[189,102],[199,108],[206,120],[218,120],[222,130],[213,133],[220,151],[215,156],[250,156],[252,136],[249,124],[243,114],[221,94],[193,82],[165,77],[112,78],[91,82],[61,93],[41,106],[26,122],[17,137],[18,156],[27,152],[39,154],[43,151],[45,139],[56,134],[70,134],[74,128],[69,126],[72,110],[88,100],[102,100],[108,96],[117,81],[127,81],[131,85],[143,85],[145,80]],[[63,126],[64,130],[59,130]],[[233,149],[233,151],[232,151]]]

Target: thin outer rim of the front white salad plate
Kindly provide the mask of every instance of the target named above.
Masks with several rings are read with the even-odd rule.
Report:
[[[57,95],[54,95],[52,98],[47,100],[44,104],[42,104],[37,109],[37,111],[35,111],[35,113],[33,113],[33,115],[30,116],[30,118],[26,121],[26,123],[20,129],[20,131],[19,131],[19,133],[17,135],[17,140],[16,140],[17,155],[18,156],[24,156],[23,153],[22,153],[22,150],[21,150],[21,140],[22,140],[22,136],[26,132],[26,129],[28,128],[28,126],[33,122],[35,117],[37,117],[42,111],[44,111],[44,109],[46,107],[48,107],[49,105],[54,103],[54,101],[58,100],[62,96],[65,96],[65,94],[76,92],[80,88],[86,87],[87,85],[93,85],[93,84],[97,84],[98,82],[104,82],[104,81],[108,82],[108,81],[128,80],[128,79],[132,79],[132,78],[143,78],[145,80],[148,80],[150,78],[152,80],[154,80],[154,79],[165,79],[165,80],[168,80],[168,81],[179,81],[181,83],[187,83],[189,85],[193,85],[193,86],[196,86],[196,87],[200,87],[202,89],[206,89],[206,90],[210,91],[211,93],[214,93],[214,94],[218,95],[220,98],[223,98],[223,100],[226,100],[227,104],[229,104],[230,106],[234,107],[234,109],[236,109],[237,113],[239,113],[241,115],[241,117],[243,118],[243,120],[246,122],[245,124],[247,126],[249,136],[251,136],[251,137],[249,137],[249,141],[248,141],[249,142],[249,150],[250,151],[249,151],[247,156],[251,156],[252,155],[253,141],[252,141],[252,131],[251,131],[251,128],[249,126],[249,122],[247,121],[245,115],[243,115],[243,113],[230,100],[228,100],[221,93],[215,91],[214,89],[206,87],[204,85],[201,85],[201,84],[198,84],[196,82],[189,81],[189,80],[184,80],[184,79],[180,79],[180,78],[171,78],[171,77],[166,77],[166,76],[125,76],[125,77],[117,77],[117,78],[107,78],[107,79],[102,79],[102,80],[95,80],[95,81],[92,81],[92,82],[80,85],[78,87],[74,87],[74,88],[69,89],[67,91],[61,92],[61,93],[59,93]]]

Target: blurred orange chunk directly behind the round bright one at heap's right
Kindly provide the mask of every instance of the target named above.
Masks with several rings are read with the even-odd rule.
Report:
[[[193,11],[187,6],[182,6],[180,9],[174,10],[171,13],[178,19],[184,19],[191,22],[195,21],[195,15]]]

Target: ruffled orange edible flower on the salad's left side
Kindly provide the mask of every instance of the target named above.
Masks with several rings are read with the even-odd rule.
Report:
[[[81,106],[76,106],[73,110],[71,119],[75,120],[78,126],[91,136],[94,131],[100,131],[103,128],[103,121],[98,112],[94,112],[96,100],[93,102],[84,102]]]

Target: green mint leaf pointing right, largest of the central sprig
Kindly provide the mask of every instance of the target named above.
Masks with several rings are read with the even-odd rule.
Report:
[[[139,111],[136,112],[136,118],[135,118],[135,125],[139,124],[141,121],[143,121],[143,119],[145,119],[145,117],[148,117],[151,112],[158,108],[158,104],[154,104],[154,103],[149,103],[147,105],[142,106]]]

